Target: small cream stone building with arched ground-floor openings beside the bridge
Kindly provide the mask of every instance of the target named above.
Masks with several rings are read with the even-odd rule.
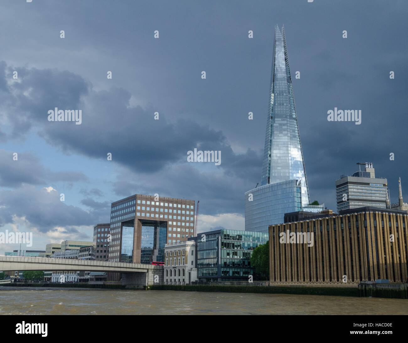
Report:
[[[168,243],[164,246],[164,284],[185,285],[197,281],[195,240]]]

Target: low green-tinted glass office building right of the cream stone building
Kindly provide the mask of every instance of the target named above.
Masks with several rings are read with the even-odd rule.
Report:
[[[252,252],[268,241],[268,233],[221,229],[199,233],[194,239],[199,282],[248,281],[254,273]]]

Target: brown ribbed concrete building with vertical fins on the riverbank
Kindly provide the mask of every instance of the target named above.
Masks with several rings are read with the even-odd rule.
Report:
[[[360,281],[376,279],[406,282],[407,225],[407,211],[375,207],[271,225],[271,284],[357,286]]]

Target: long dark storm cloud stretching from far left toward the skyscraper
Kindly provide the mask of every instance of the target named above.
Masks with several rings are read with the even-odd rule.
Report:
[[[255,173],[255,165],[260,163],[249,149],[246,154],[234,154],[224,134],[208,125],[191,119],[171,121],[166,112],[159,113],[159,120],[155,120],[153,108],[130,106],[131,94],[122,88],[97,92],[91,86],[87,88],[78,75],[50,69],[24,69],[20,77],[21,83],[9,86],[11,93],[18,94],[13,109],[19,115],[8,110],[12,131],[23,134],[31,126],[27,123],[35,123],[50,145],[66,153],[105,160],[110,152],[113,161],[140,172],[186,162],[187,152],[194,148],[221,150],[221,167],[239,177]],[[47,112],[55,107],[82,109],[82,124],[48,121]]]

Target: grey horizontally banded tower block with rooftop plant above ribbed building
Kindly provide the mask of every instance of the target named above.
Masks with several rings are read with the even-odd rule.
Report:
[[[337,212],[359,207],[386,209],[387,179],[376,178],[373,163],[357,163],[359,170],[352,176],[336,180]]]

